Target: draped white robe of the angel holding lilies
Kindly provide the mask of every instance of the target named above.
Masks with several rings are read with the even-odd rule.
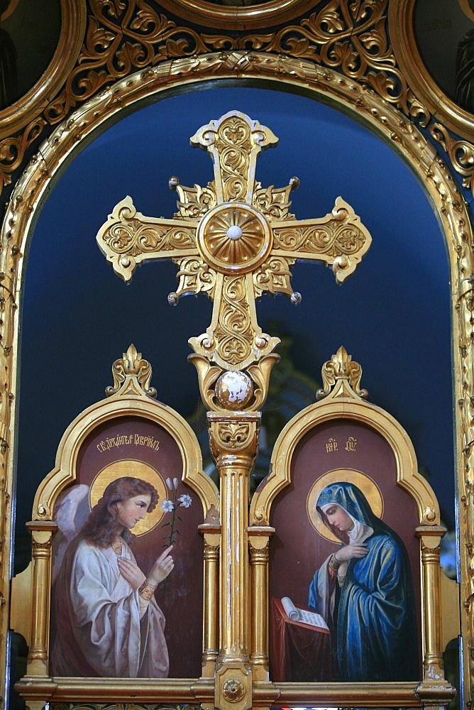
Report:
[[[121,556],[135,560],[126,542]],[[53,587],[51,675],[167,677],[165,617],[153,596],[140,619],[138,590],[117,559],[111,547],[70,545]]]

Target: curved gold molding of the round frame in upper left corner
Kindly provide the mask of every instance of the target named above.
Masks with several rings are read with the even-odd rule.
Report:
[[[0,111],[0,138],[12,136],[50,104],[76,63],[86,19],[86,0],[61,0],[61,31],[53,59],[21,99]]]

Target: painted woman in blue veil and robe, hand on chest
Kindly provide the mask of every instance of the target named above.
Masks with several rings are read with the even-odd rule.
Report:
[[[314,574],[308,596],[331,629],[338,679],[416,679],[414,590],[404,543],[353,484],[323,488],[316,510],[342,543]]]

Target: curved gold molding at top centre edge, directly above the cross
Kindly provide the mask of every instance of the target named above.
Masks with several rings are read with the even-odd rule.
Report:
[[[250,6],[229,6],[206,0],[162,0],[162,6],[204,27],[250,30],[286,22],[314,6],[312,0],[270,0]]]

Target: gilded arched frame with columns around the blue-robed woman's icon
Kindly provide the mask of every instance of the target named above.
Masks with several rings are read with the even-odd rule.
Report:
[[[438,623],[441,599],[443,597],[439,553],[441,550],[441,537],[446,532],[446,528],[443,528],[440,521],[439,503],[428,481],[418,472],[417,455],[407,432],[385,410],[365,401],[368,392],[360,388],[362,368],[360,364],[352,361],[351,355],[348,355],[343,346],[338,349],[336,354],[333,354],[331,360],[324,363],[321,369],[321,376],[324,390],[319,390],[316,393],[316,400],[318,401],[300,410],[282,429],[273,447],[270,472],[253,495],[250,503],[250,554],[252,555],[253,553],[255,555],[253,550],[255,547],[260,550],[263,549],[263,540],[266,540],[265,550],[268,552],[270,537],[274,532],[277,532],[276,525],[273,528],[270,523],[272,503],[277,495],[292,483],[293,455],[297,451],[299,444],[304,440],[304,437],[314,433],[321,425],[331,425],[336,421],[357,422],[368,427],[369,430],[377,432],[392,450],[397,471],[397,486],[409,493],[409,496],[416,502],[418,510],[418,527],[413,532],[421,543],[421,598],[423,600],[421,604],[423,612],[421,613],[422,618],[420,621],[424,655],[424,677],[417,687],[416,695],[424,704],[429,704],[430,694],[434,687],[437,686],[439,692],[446,692],[445,702],[448,702],[449,692],[452,692],[452,689],[450,691],[449,684],[443,680],[441,652],[448,640],[451,640],[452,636],[457,632],[456,625],[454,625],[450,630],[446,629],[448,633],[445,635],[441,633],[441,625]],[[308,461],[306,465],[308,465]],[[294,471],[294,481],[297,479],[296,470]],[[301,473],[301,468],[299,468],[299,474]],[[334,481],[334,479],[332,480]],[[321,488],[319,488],[319,491],[321,491]],[[315,503],[316,501],[313,499],[313,505]],[[255,545],[255,540],[257,545]],[[267,564],[269,562],[268,554],[265,557],[265,562]],[[258,574],[260,574],[260,579],[258,579]],[[259,594],[263,596],[263,599],[269,599],[270,584],[268,584],[268,575],[257,571],[255,566],[253,567],[252,584],[253,600],[257,599]],[[446,596],[448,596],[447,587],[451,584],[452,590],[453,581],[446,579],[445,584]],[[261,589],[265,589],[266,594],[262,594]],[[454,591],[454,594],[456,595],[456,591]],[[452,599],[452,597],[450,598]],[[255,618],[256,615],[257,609],[254,610],[253,617]],[[270,614],[267,616],[270,616]],[[258,642],[257,630],[255,630],[253,638],[255,638],[255,642]],[[253,654],[256,659],[265,657],[268,654],[266,640],[264,640],[261,648],[253,649]],[[342,694],[341,685],[343,687]],[[397,700],[394,699],[396,703],[402,702],[404,691],[407,692],[408,698],[412,695],[413,689],[409,683],[406,688],[403,688],[404,684],[402,683],[395,685],[397,685],[397,691],[399,692]],[[279,684],[282,697],[285,699],[285,692],[289,692],[290,699],[288,701],[294,702],[295,699],[291,695],[291,686],[291,683]],[[297,701],[306,701],[309,704],[315,701],[315,697],[318,697],[321,704],[327,702],[328,704],[338,705],[351,703],[353,697],[357,697],[358,693],[363,694],[365,691],[370,694],[371,699],[378,697],[380,705],[384,706],[390,701],[391,686],[390,682],[383,684],[370,682],[364,682],[363,684],[329,683],[324,686],[318,697],[318,684],[315,684],[312,694],[309,689],[304,688],[301,698],[298,698]]]

